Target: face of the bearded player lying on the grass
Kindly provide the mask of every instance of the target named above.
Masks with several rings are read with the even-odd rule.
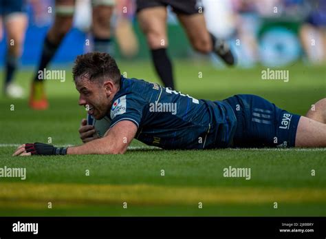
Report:
[[[84,80],[76,83],[76,89],[80,94],[78,104],[86,107],[88,114],[97,120],[107,114],[113,97],[108,95],[104,85]]]

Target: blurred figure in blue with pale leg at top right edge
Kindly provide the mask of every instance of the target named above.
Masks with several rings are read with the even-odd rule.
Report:
[[[309,14],[301,28],[301,41],[312,63],[326,61],[326,1],[309,0]]]

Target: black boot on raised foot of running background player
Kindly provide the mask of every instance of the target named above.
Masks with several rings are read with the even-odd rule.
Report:
[[[226,64],[234,65],[235,57],[233,56],[228,43],[226,43],[226,41],[223,39],[218,39],[211,33],[210,39],[212,39],[213,43],[213,52],[217,54],[217,56],[221,57]]]

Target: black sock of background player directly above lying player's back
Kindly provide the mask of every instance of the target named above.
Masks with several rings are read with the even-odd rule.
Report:
[[[172,64],[166,54],[166,48],[151,50],[151,54],[156,72],[163,81],[164,86],[174,89]]]

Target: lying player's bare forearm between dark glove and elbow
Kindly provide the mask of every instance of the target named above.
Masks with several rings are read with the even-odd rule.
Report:
[[[68,147],[67,154],[124,154],[126,150],[127,147],[118,147],[118,145],[110,142],[107,137],[104,137],[84,145]]]

